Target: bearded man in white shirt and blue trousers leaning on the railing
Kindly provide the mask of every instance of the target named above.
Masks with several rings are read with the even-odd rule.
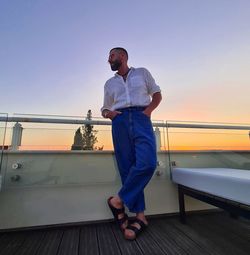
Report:
[[[124,48],[110,50],[108,62],[117,71],[104,86],[102,116],[112,120],[112,138],[122,187],[108,205],[126,239],[135,239],[148,225],[144,188],[156,168],[156,143],[150,120],[162,97],[160,88],[145,68],[129,68]],[[136,213],[128,223],[126,206]]]

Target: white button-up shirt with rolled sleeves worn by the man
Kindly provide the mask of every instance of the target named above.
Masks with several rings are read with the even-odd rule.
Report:
[[[114,111],[131,106],[148,106],[160,87],[146,68],[130,68],[126,81],[119,74],[104,85],[103,110]]]

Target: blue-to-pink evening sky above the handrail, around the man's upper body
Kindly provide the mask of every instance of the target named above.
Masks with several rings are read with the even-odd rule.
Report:
[[[161,86],[154,119],[250,122],[248,0],[1,0],[0,112],[100,116],[125,47]]]

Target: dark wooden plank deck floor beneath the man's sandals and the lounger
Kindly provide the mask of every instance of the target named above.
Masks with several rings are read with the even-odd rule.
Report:
[[[250,221],[226,213],[151,218],[136,241],[126,241],[112,222],[0,234],[1,255],[247,255]]]

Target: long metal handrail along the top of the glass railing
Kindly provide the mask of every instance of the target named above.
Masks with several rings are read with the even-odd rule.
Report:
[[[84,119],[59,119],[59,118],[34,118],[34,117],[8,117],[8,122],[29,122],[29,123],[54,123],[54,124],[77,124],[77,125],[111,125],[107,120],[84,120]],[[6,122],[5,117],[0,117],[0,122]],[[196,129],[234,129],[250,130],[249,125],[235,124],[201,124],[201,123],[177,123],[177,122],[153,122],[154,127],[165,128],[196,128]]]

